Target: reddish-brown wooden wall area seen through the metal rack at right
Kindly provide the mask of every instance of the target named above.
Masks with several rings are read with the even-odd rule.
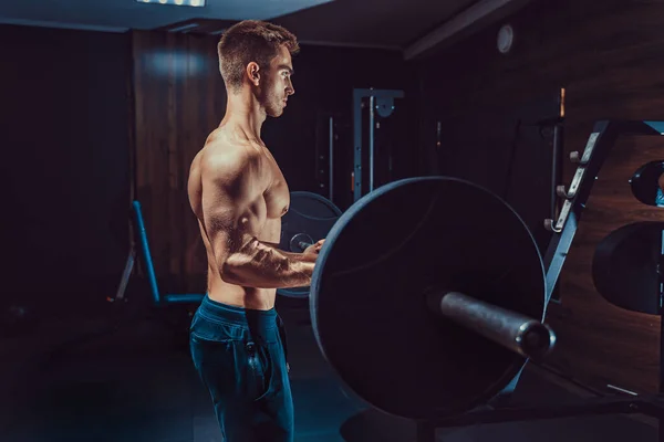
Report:
[[[604,389],[608,383],[656,391],[660,320],[606,302],[595,290],[595,248],[612,231],[632,222],[664,220],[661,209],[645,206],[631,192],[629,179],[664,155],[664,140],[625,137],[615,144],[589,198],[578,235],[561,275],[561,304],[551,305],[549,322],[560,337],[551,364],[580,381]]]

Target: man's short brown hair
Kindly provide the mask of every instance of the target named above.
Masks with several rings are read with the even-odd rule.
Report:
[[[242,85],[245,69],[251,62],[267,69],[281,45],[286,45],[291,54],[300,51],[295,35],[277,24],[245,20],[230,27],[217,44],[219,71],[226,87],[237,91]]]

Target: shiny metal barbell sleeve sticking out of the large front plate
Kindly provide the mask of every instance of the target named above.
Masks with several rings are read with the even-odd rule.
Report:
[[[556,334],[541,322],[459,292],[428,291],[428,307],[492,341],[533,360],[541,360],[556,344]]]

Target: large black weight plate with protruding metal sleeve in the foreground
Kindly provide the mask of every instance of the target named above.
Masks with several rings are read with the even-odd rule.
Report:
[[[352,392],[391,414],[434,419],[486,403],[553,348],[544,287],[537,244],[506,202],[460,179],[422,177],[339,217],[309,301],[320,350]]]

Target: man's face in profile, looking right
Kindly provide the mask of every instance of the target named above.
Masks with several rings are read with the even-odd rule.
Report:
[[[287,99],[295,93],[291,75],[293,63],[290,52],[286,46],[280,46],[277,56],[270,62],[267,72],[263,72],[260,101],[266,113],[271,117],[283,114]]]

